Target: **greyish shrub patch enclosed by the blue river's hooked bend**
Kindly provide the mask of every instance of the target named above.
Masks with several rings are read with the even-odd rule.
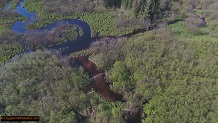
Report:
[[[77,27],[75,25],[64,24],[58,25],[50,31],[30,32],[25,36],[24,41],[32,49],[43,49],[67,40],[76,40],[77,36]]]

